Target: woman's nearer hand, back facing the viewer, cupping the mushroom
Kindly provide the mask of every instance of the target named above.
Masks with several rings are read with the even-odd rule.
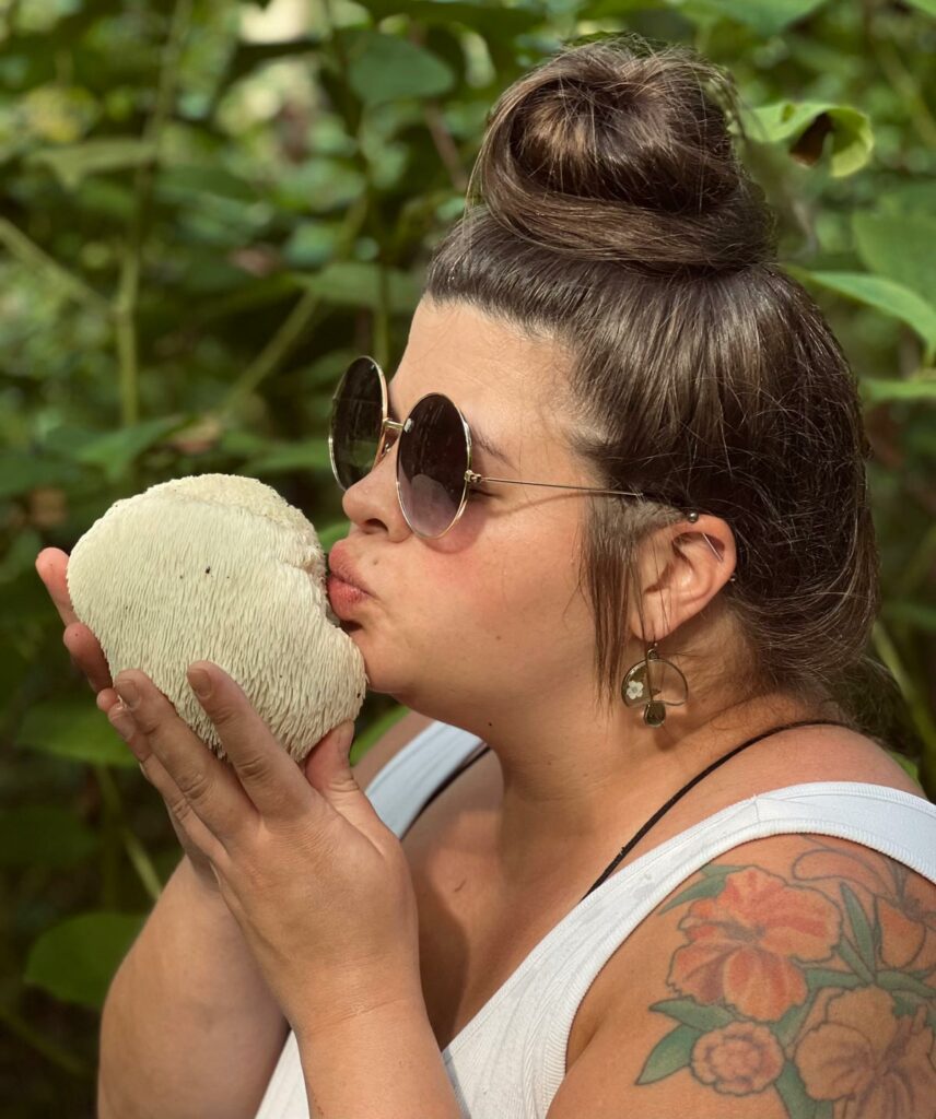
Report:
[[[209,861],[293,1031],[389,1003],[424,1007],[410,869],[350,771],[354,725],[326,735],[300,769],[235,680],[203,660],[193,685],[191,669],[209,683],[196,695],[226,760],[139,670],[115,680],[129,741],[147,743],[138,756],[149,780]]]

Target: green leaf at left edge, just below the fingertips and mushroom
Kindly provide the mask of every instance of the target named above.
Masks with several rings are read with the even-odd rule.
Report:
[[[87,698],[37,704],[24,716],[15,742],[18,746],[95,765],[131,769],[137,759],[118,737],[107,716]]]

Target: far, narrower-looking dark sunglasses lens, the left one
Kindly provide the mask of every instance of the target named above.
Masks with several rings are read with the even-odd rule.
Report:
[[[331,398],[331,470],[341,489],[359,482],[374,466],[381,435],[381,378],[367,357],[348,366]]]

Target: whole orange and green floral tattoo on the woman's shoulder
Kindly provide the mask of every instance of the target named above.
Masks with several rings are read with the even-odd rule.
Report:
[[[804,836],[789,878],[712,864],[661,912],[685,943],[656,1003],[675,1027],[637,1080],[686,1069],[790,1119],[936,1119],[936,891],[902,864]]]

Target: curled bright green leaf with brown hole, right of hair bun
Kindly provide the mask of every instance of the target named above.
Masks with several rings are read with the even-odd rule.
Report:
[[[742,110],[742,122],[751,140],[787,143],[793,151],[807,129],[816,124],[831,129],[831,173],[842,178],[860,170],[871,158],[874,137],[865,113],[831,101],[777,101],[754,110]]]

